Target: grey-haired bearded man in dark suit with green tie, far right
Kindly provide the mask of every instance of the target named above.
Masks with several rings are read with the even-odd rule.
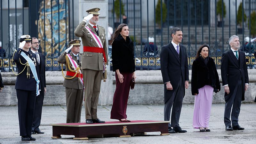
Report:
[[[227,131],[244,130],[244,128],[240,127],[238,124],[238,116],[241,101],[244,100],[244,92],[248,89],[249,84],[245,54],[238,50],[240,47],[238,36],[231,36],[228,43],[231,49],[224,52],[221,58],[221,78],[226,101],[224,123]],[[233,128],[229,119],[230,112]]]

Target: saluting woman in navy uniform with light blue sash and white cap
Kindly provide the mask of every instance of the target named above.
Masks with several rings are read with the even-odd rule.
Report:
[[[15,89],[18,99],[18,114],[20,124],[21,140],[36,140],[31,136],[33,115],[36,96],[41,89],[38,65],[36,64],[36,55],[29,52],[31,47],[31,37],[23,35],[20,37],[20,46],[13,56],[17,65],[18,74]]]

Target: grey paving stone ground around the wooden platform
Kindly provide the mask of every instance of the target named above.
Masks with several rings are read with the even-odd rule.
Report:
[[[17,143],[256,143],[256,103],[241,105],[239,124],[244,131],[225,131],[223,122],[225,104],[213,104],[210,129],[211,132],[199,132],[193,129],[193,104],[183,105],[180,116],[180,126],[186,133],[174,133],[160,136],[160,132],[147,132],[146,135],[129,138],[107,137],[89,138],[89,140],[73,140],[72,135],[61,135],[60,139],[52,139],[52,126],[54,123],[66,122],[66,106],[44,106],[40,129],[44,134],[33,134],[36,141],[21,141],[19,132],[18,107],[0,107],[0,144]],[[105,121],[110,119],[111,106],[99,106],[98,117]],[[127,116],[129,120],[163,120],[163,105],[128,105]],[[82,108],[81,122],[85,122],[84,107]]]

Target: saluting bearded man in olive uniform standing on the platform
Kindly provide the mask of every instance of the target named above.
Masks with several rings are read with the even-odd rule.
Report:
[[[97,25],[99,8],[87,10],[89,15],[76,27],[75,35],[82,38],[84,53],[82,69],[84,76],[84,105],[86,123],[105,123],[97,117],[100,83],[104,65],[108,65],[105,29]]]

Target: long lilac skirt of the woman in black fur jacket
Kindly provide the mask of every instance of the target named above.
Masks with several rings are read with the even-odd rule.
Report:
[[[198,89],[198,94],[195,95],[193,127],[209,127],[209,119],[211,115],[213,87],[205,85]]]

